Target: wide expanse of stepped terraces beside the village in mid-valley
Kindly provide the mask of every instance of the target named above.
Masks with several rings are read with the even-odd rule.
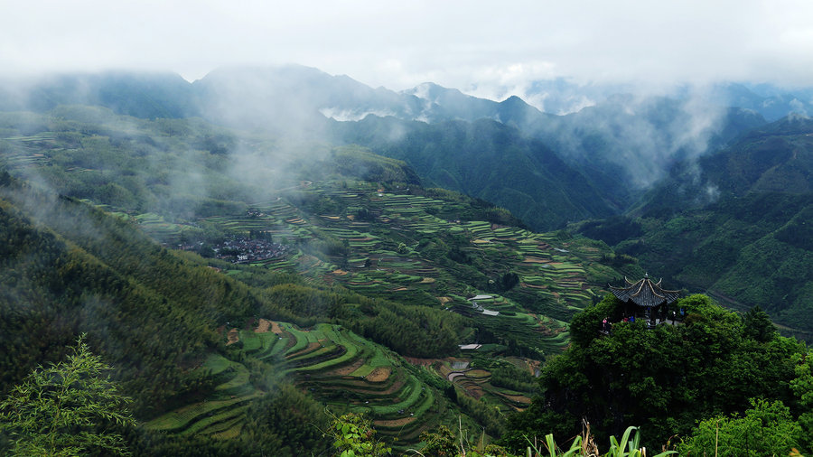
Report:
[[[383,191],[368,182],[308,182],[299,189],[310,199],[332,201],[334,213],[309,215],[284,198],[257,203],[244,216],[204,219],[227,233],[270,234],[290,249],[252,265],[293,271],[309,282],[342,284],[360,294],[425,306],[444,306],[470,316],[481,328],[513,335],[532,357],[547,357],[567,343],[567,322],[605,294],[621,274],[599,263],[607,247],[584,238],[559,238],[487,221],[452,219],[460,203],[407,190]],[[304,199],[307,200],[307,199]],[[361,213],[366,217],[360,219]],[[444,215],[444,217],[440,217]],[[172,224],[141,215],[145,229],[171,232]],[[314,256],[295,248],[325,236],[345,254]],[[435,239],[460,247],[463,263],[449,262],[443,250],[427,248]],[[443,241],[441,241],[443,242]],[[495,290],[506,272],[519,275],[509,292]],[[495,294],[496,302],[472,308],[468,297]],[[500,294],[506,296],[500,296]],[[499,313],[497,313],[499,312]],[[468,341],[461,341],[461,343]],[[498,348],[499,349],[499,348]]]

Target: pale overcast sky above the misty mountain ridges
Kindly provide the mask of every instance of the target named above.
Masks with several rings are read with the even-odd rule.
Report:
[[[813,86],[809,0],[0,0],[0,75],[297,63],[488,98],[530,83]]]

